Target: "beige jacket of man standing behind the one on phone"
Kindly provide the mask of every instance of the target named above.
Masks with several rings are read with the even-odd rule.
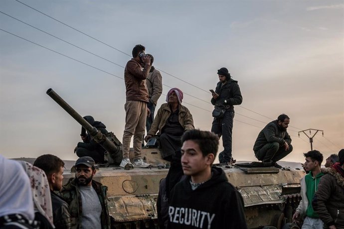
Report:
[[[148,88],[149,102],[157,105],[158,100],[163,93],[163,82],[160,72],[154,67],[152,67],[151,72],[148,74],[146,84]]]

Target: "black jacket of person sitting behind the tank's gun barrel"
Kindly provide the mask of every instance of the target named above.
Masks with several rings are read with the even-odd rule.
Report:
[[[106,130],[106,126],[101,121],[95,121],[94,118],[89,115],[85,116],[84,119],[102,133],[108,133],[108,131]],[[87,138],[84,142],[79,142],[78,147],[102,153],[105,152],[105,149],[100,144],[92,140],[89,134],[86,134],[86,129],[84,127],[81,127],[81,136],[87,136]]]

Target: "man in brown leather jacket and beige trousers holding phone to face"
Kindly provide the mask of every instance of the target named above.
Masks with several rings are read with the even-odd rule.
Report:
[[[145,46],[138,44],[133,48],[133,58],[128,61],[124,69],[124,82],[126,85],[126,124],[123,133],[123,160],[120,164],[146,168],[141,156],[142,142],[145,134],[146,118],[150,111],[147,108],[148,89],[146,79],[151,70],[151,58],[145,55]],[[148,111],[147,111],[148,110]],[[134,135],[134,162],[129,159],[130,141]]]

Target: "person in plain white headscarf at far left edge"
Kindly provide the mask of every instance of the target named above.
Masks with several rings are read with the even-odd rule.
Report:
[[[32,229],[30,181],[17,161],[0,155],[0,228]]]

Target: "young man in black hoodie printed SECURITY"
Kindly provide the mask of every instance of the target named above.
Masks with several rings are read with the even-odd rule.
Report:
[[[223,170],[212,167],[219,138],[209,131],[186,131],[181,166],[187,177],[170,193],[168,229],[247,229],[243,200]]]

